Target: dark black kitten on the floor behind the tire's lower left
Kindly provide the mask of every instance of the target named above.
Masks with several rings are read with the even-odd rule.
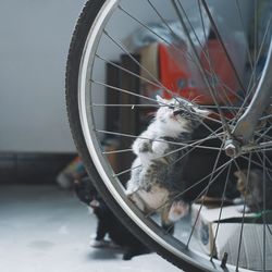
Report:
[[[123,260],[150,252],[112,213],[88,177],[75,182],[75,193],[81,201],[92,208],[98,219],[96,238],[91,242],[92,247],[109,246],[109,242],[104,240],[108,234],[115,246],[124,248]]]

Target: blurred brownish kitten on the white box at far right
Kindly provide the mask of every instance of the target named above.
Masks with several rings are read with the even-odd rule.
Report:
[[[242,195],[243,202],[246,203],[246,212],[260,212],[263,209],[263,173],[260,169],[249,171],[247,181],[247,170],[236,171],[236,186]],[[265,176],[265,209],[272,209],[272,181]],[[243,209],[244,210],[244,209]]]

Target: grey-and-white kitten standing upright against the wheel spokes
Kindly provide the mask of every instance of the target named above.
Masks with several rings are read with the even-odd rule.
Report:
[[[173,233],[174,222],[186,215],[188,202],[178,194],[185,189],[183,172],[191,134],[208,110],[181,99],[162,99],[151,124],[133,143],[136,159],[132,164],[126,194],[145,213],[161,214],[162,227]],[[175,198],[175,200],[172,200]]]

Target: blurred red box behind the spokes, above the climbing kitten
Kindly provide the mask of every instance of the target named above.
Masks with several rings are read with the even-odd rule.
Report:
[[[240,87],[221,44],[217,39],[208,40],[199,58],[210,85],[218,94],[218,102],[235,102]],[[196,99],[200,104],[214,104],[196,65],[189,65],[185,47],[177,50],[176,47],[159,45],[159,64],[160,81],[165,88],[189,100]],[[164,90],[163,97],[170,99],[172,95]]]

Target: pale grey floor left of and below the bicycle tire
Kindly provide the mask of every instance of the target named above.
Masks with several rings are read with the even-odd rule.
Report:
[[[0,271],[177,272],[156,254],[123,261],[114,249],[88,246],[96,219],[57,186],[0,186]]]

